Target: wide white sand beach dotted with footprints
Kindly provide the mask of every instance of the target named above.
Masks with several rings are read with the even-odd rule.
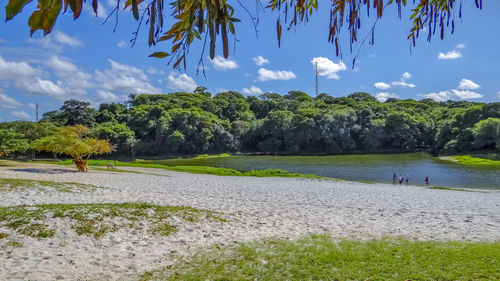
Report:
[[[35,164],[22,168],[73,170]],[[176,257],[200,246],[270,236],[295,238],[307,233],[326,232],[355,239],[390,235],[420,240],[500,241],[500,192],[495,191],[218,177],[145,168],[133,170],[148,174],[50,174],[12,169],[0,167],[0,178],[78,182],[105,188],[78,193],[0,192],[0,206],[147,202],[218,211],[228,222],[187,223],[167,237],[121,229],[99,240],[78,236],[69,221],[59,219],[47,219],[46,223],[58,230],[49,239],[19,236],[0,227],[0,232],[11,235],[0,240],[0,280],[133,280],[137,274],[171,264]],[[23,242],[24,247],[6,247],[9,239]]]

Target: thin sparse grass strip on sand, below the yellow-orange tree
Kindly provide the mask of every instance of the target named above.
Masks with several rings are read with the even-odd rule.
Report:
[[[2,179],[0,178],[0,192],[26,189],[47,189],[53,188],[59,192],[75,192],[76,190],[95,191],[98,186],[91,184],[82,184],[76,182],[53,182],[25,179]]]

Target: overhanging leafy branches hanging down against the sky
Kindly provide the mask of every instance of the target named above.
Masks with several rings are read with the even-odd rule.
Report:
[[[6,21],[11,20],[19,14],[30,0],[9,0],[5,7]],[[118,15],[120,1],[116,1],[116,8],[111,14]],[[125,9],[132,11],[131,15],[137,20],[138,25],[149,24],[147,42],[149,46],[160,42],[171,42],[172,46],[168,52],[155,52],[151,57],[171,57],[173,67],[178,68],[186,64],[186,55],[189,46],[194,39],[209,42],[210,58],[216,53],[216,42],[222,45],[222,54],[225,58],[229,55],[229,34],[236,33],[235,23],[240,19],[234,17],[235,8],[228,0],[175,0],[165,3],[163,0],[126,0]],[[373,15],[377,20],[382,18],[384,10],[388,6],[397,5],[398,14],[401,17],[402,9],[411,11],[410,32],[407,39],[415,46],[416,39],[421,32],[427,31],[427,40],[431,40],[437,32],[441,39],[445,31],[449,29],[454,33],[455,23],[462,17],[462,2],[459,0],[331,0],[329,6],[330,22],[328,25],[328,42],[336,48],[337,56],[341,55],[340,41],[342,30],[348,33],[349,49],[353,52],[353,43],[358,40],[365,42],[369,39],[374,43],[375,24],[368,29],[367,36],[360,35],[360,29],[364,26],[365,19]],[[89,1],[90,4],[90,1]],[[165,5],[166,4],[166,5]],[[249,14],[251,21],[257,25],[258,16],[252,13],[238,1],[238,8]],[[277,14],[276,34],[278,46],[281,44],[282,29],[289,30],[297,24],[307,22],[318,9],[318,0],[257,0],[257,6],[265,7],[275,11]],[[482,0],[475,0],[478,8],[482,8]],[[32,12],[28,20],[30,33],[42,30],[46,35],[50,33],[56,23],[61,11],[66,12],[68,7],[73,12],[73,18],[77,19],[82,11],[81,0],[38,0],[36,10]],[[98,1],[92,0],[92,8],[97,15]],[[170,6],[173,19],[168,19],[171,25],[166,27],[165,6]],[[111,15],[110,15],[111,16]],[[375,21],[376,23],[376,21]],[[135,39],[137,39],[137,31]],[[202,63],[203,57],[200,62]]]

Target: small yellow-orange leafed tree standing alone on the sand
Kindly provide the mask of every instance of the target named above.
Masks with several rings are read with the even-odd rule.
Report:
[[[92,155],[110,153],[113,150],[108,141],[91,138],[89,133],[89,128],[83,125],[67,126],[57,134],[36,140],[31,146],[38,151],[69,155],[78,171],[86,172],[87,160]]]

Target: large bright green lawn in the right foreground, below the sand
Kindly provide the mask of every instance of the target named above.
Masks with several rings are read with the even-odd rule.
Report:
[[[500,243],[264,240],[205,249],[140,280],[497,280]]]

